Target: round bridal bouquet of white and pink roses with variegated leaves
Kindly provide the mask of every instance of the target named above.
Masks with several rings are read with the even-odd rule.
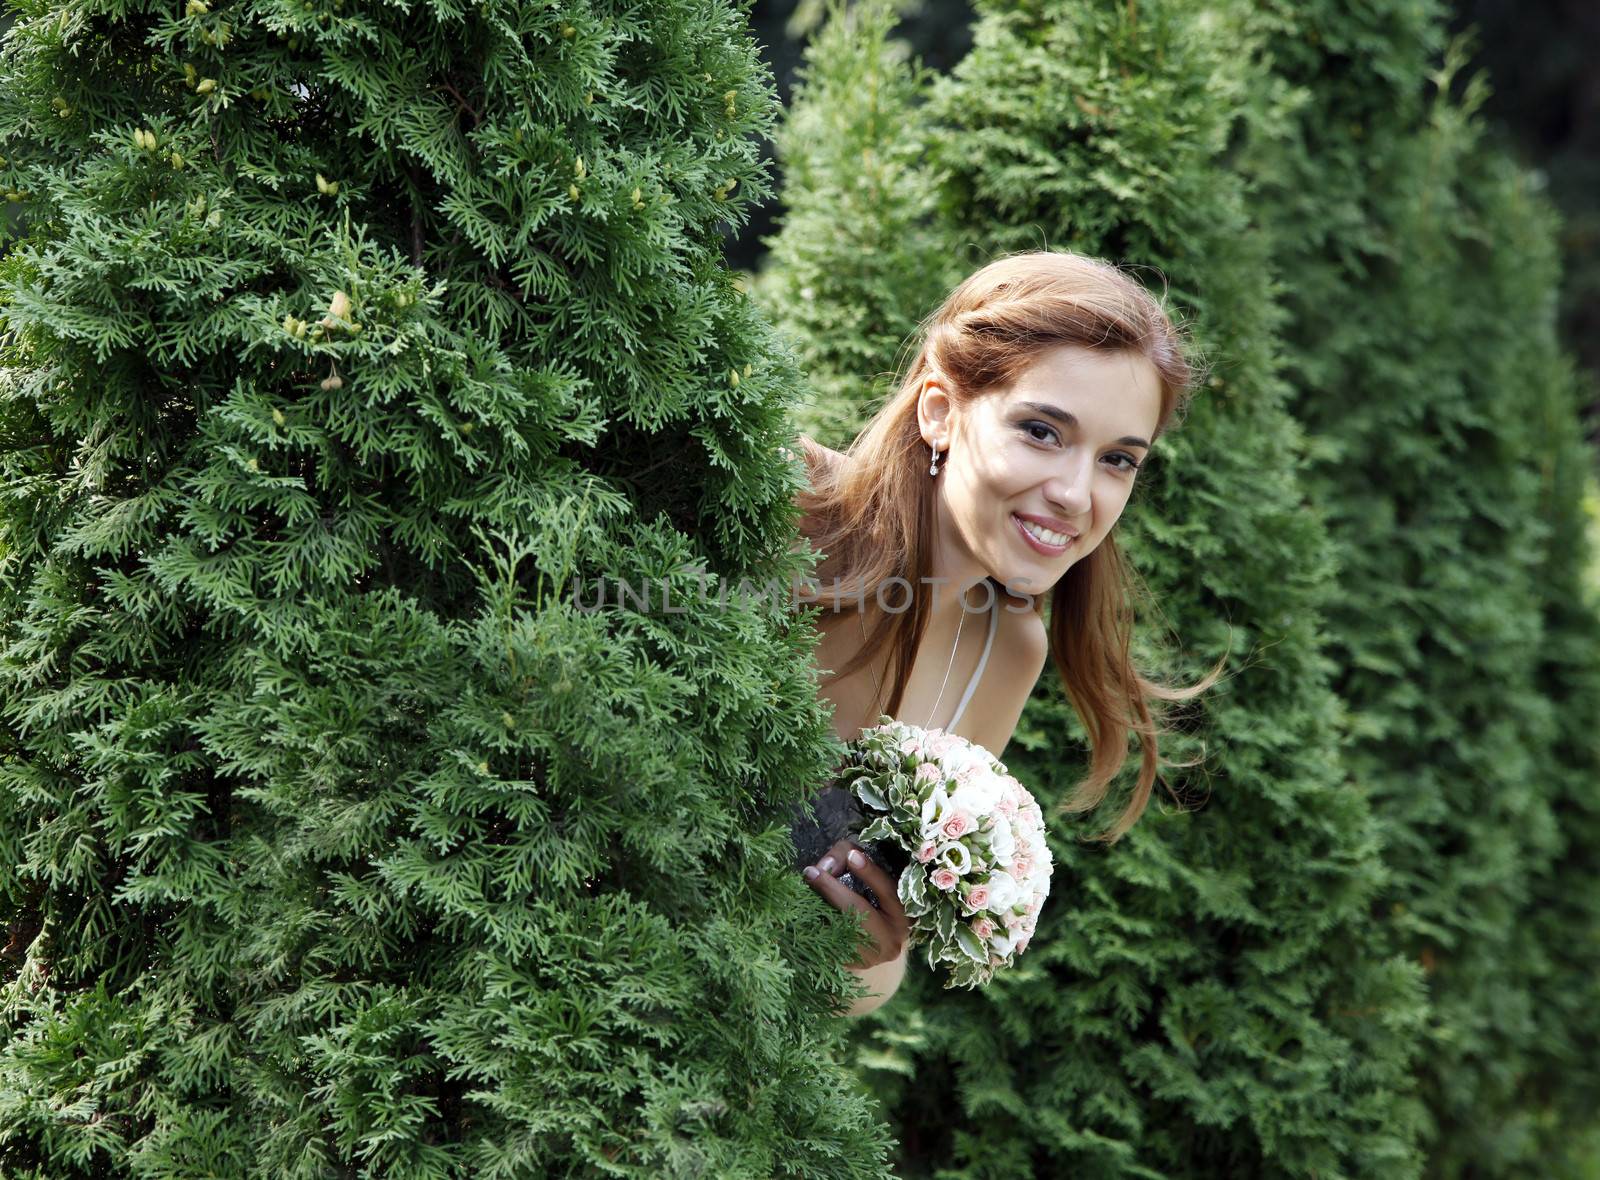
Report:
[[[984,747],[883,716],[850,743],[840,785],[869,807],[861,841],[910,854],[899,900],[910,945],[946,988],[987,983],[1027,950],[1050,895],[1038,803]]]

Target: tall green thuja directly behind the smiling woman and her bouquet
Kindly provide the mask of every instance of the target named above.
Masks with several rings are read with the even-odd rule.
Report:
[[[1138,636],[1144,667],[1184,680],[1234,652],[1234,676],[1163,747],[1203,759],[1166,772],[1190,809],[1152,806],[1110,849],[1075,839],[1102,817],[1058,819],[1056,881],[1027,963],[979,993],[912,972],[859,1033],[902,1175],[1419,1169],[1408,1065],[1421,969],[1368,948],[1381,830],[1346,782],[1320,630],[1341,552],[1298,481],[1304,437],[1280,376],[1272,243],[1229,165],[1238,120],[1278,112],[1230,18],[986,3],[954,75],[925,104],[902,101],[931,146],[930,216],[946,249],[970,245],[976,261],[1061,246],[1144,264],[1192,318],[1211,381],[1157,446],[1118,532],[1160,603]],[[882,53],[822,45],[854,69]],[[803,109],[829,93],[846,110]],[[811,90],[789,126],[845,125],[853,101],[848,86]],[[794,184],[786,176],[787,203],[808,208],[814,193]],[[1053,676],[1006,761],[1046,804],[1082,775],[1083,731]]]

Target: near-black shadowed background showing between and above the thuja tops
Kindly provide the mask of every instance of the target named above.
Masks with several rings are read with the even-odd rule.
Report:
[[[819,14],[813,0],[758,0],[750,10],[786,106]],[[898,35],[926,66],[947,70],[970,48],[970,27],[965,3],[928,0],[907,14]],[[1586,381],[1586,433],[1600,444],[1600,64],[1594,58],[1600,0],[1454,0],[1448,27],[1474,38],[1474,67],[1490,82],[1483,115],[1491,134],[1544,176],[1562,211],[1562,336]],[[766,152],[773,155],[771,144]],[[781,176],[776,160],[773,174]],[[762,238],[776,230],[776,213],[778,201],[768,201],[728,241],[731,265],[760,267],[766,253]]]

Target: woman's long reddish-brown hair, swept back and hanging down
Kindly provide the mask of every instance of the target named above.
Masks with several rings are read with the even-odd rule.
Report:
[[[821,451],[806,454],[811,488],[797,499],[805,513],[802,536],[824,558],[814,576],[821,580],[826,571],[840,587],[835,611],[845,600],[864,604],[869,590],[877,593],[891,579],[920,587],[931,576],[934,488],[917,424],[917,401],[930,374],[939,374],[952,401],[965,408],[1011,385],[1042,352],[1061,344],[1138,353],[1155,366],[1162,385],[1152,443],[1182,419],[1200,376],[1186,357],[1182,331],[1149,291],[1110,262],[1067,251],[995,259],[957,286],[917,336],[920,347],[899,389],[845,451],[845,462],[829,467]],[[894,596],[883,593],[885,600]],[[1003,587],[995,584],[994,593]],[[1142,759],[1133,798],[1109,830],[1091,836],[1114,844],[1144,814],[1160,766],[1192,764],[1165,763],[1157,751],[1166,720],[1162,702],[1200,696],[1221,676],[1222,664],[1190,688],[1158,683],[1133,667],[1133,601],[1147,600],[1149,592],[1123,561],[1115,529],[1048,595],[1051,660],[1091,750],[1088,774],[1061,812],[1099,806],[1126,761],[1128,734],[1139,734]],[[885,710],[891,716],[901,707],[930,617],[926,595],[907,596],[910,608],[885,612],[862,649],[837,670],[848,676],[893,644]],[[834,595],[808,587],[797,598],[814,603]],[[1043,596],[1034,596],[1034,609],[1043,611]]]

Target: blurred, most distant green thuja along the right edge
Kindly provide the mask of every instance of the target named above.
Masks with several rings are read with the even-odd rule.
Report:
[[[1438,5],[1259,14],[1306,101],[1245,163],[1282,240],[1306,478],[1349,542],[1331,654],[1350,767],[1389,831],[1376,908],[1434,1009],[1429,1172],[1589,1174],[1594,456],[1555,342],[1552,214],[1485,146],[1485,83],[1462,85]]]

